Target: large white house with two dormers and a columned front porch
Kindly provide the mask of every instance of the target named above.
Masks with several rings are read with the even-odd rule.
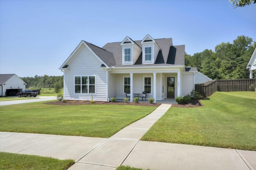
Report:
[[[172,38],[146,35],[133,41],[127,36],[102,48],[82,40],[59,68],[64,72],[64,99],[109,101],[124,99],[127,91],[146,91],[147,99],[156,102],[187,95],[199,72],[185,68],[184,56],[185,45],[173,45]]]

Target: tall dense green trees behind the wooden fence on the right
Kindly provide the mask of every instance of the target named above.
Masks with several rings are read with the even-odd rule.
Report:
[[[216,45],[215,51],[205,49],[192,56],[185,54],[185,65],[197,67],[211,79],[248,79],[250,71],[246,66],[255,47],[256,42],[252,38],[238,36],[233,43]]]

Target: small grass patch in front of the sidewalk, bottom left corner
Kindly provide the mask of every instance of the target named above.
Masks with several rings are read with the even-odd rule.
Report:
[[[0,152],[1,170],[66,170],[74,160]]]

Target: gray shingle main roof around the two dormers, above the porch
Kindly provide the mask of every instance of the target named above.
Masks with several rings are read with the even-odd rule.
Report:
[[[137,61],[134,65],[122,65],[122,45],[121,42],[114,42],[114,43],[106,43],[102,47],[102,49],[106,51],[110,51],[113,56],[108,54],[108,57],[104,56],[104,51],[101,51],[100,55],[97,55],[104,60],[109,60],[109,64],[106,63],[108,66],[115,66],[115,67],[141,67],[141,66],[172,66],[172,65],[185,65],[185,45],[176,45],[171,46],[172,38],[164,38],[164,39],[155,39],[156,43],[160,47],[160,51],[156,58],[156,62],[152,64],[143,64],[142,65],[142,53],[138,57]],[[137,45],[142,48],[142,44],[140,41],[134,41]],[[86,43],[87,44],[87,43]],[[89,45],[88,45],[89,46]],[[99,47],[98,47],[99,48]],[[93,50],[93,49],[92,49]],[[112,58],[113,57],[113,58]]]

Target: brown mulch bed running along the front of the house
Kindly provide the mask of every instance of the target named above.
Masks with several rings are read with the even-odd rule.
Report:
[[[105,101],[76,101],[76,100],[67,100],[66,103],[62,101],[52,101],[44,103],[46,105],[135,105],[135,106],[160,106],[161,103],[134,103],[134,102],[105,102]],[[191,100],[189,104],[172,104],[172,107],[200,107],[202,104],[198,100]]]

